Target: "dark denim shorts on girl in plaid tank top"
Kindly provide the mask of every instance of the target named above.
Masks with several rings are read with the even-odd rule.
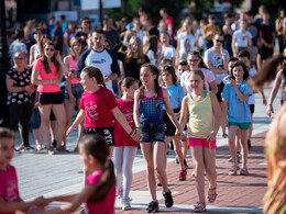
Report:
[[[165,142],[164,123],[141,123],[140,143]]]

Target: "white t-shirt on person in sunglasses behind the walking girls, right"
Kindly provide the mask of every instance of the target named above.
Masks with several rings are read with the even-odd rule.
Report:
[[[227,58],[230,58],[229,52],[227,49],[223,49],[223,53],[227,55]],[[215,53],[211,48],[207,49],[205,53],[205,61],[210,60],[211,66],[213,68],[223,68],[223,58],[222,54],[217,54]],[[213,74],[216,78],[217,85],[220,85],[222,79],[228,75],[227,72],[224,74]]]

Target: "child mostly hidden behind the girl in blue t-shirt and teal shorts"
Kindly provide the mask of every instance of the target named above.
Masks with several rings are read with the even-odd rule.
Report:
[[[239,53],[239,59],[241,61],[243,61],[245,64],[245,66],[249,69],[250,72],[250,77],[254,77],[257,72],[257,70],[255,70],[254,68],[251,68],[251,56],[249,50],[242,50]],[[255,93],[256,91],[254,90],[253,93]],[[262,94],[262,99],[263,99],[263,104],[266,105],[267,101],[266,98],[264,95],[263,89],[261,88],[260,90],[261,94]],[[252,136],[252,129],[253,129],[253,114],[254,114],[254,105],[255,105],[255,94],[250,95],[249,98],[249,104],[250,104],[250,111],[251,111],[251,126],[249,129],[249,135],[248,135],[248,147],[249,149],[251,148],[251,136]]]

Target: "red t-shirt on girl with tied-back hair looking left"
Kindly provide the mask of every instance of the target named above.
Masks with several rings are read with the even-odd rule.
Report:
[[[85,91],[79,106],[86,111],[85,127],[114,126],[111,110],[118,106],[118,104],[109,89],[100,87],[95,93]]]

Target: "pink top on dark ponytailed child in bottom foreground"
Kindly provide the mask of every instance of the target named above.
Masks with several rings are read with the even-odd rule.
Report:
[[[97,185],[103,171],[96,171],[87,177],[86,185]],[[86,203],[88,214],[113,214],[116,201],[116,185],[108,195],[98,203]]]

